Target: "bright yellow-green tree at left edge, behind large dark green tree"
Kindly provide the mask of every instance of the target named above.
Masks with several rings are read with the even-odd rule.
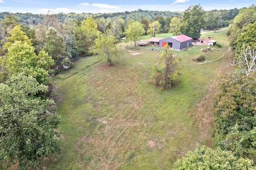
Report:
[[[21,72],[33,76],[39,83],[48,81],[50,67],[53,65],[52,58],[44,51],[40,51],[37,56],[32,43],[21,31],[20,26],[12,29],[11,36],[4,47],[8,53],[0,60],[1,81],[5,81],[12,74]]]

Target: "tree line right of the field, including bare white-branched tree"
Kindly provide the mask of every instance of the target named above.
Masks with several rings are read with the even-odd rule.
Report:
[[[227,35],[234,70],[214,97],[212,148],[198,146],[176,169],[256,169],[256,6],[242,8]]]

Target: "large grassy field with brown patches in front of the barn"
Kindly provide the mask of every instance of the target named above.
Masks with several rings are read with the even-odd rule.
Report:
[[[228,44],[225,32],[210,34]],[[182,73],[169,91],[154,87],[150,77],[161,51],[123,49],[112,67],[97,62],[96,56],[76,59],[75,67],[56,81],[64,152],[45,159],[44,168],[166,170],[196,145],[211,146],[209,94],[230,52],[223,45],[204,53],[206,60],[192,61],[202,48],[174,51],[182,56]]]

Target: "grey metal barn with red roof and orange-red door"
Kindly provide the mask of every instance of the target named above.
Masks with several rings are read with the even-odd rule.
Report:
[[[165,39],[162,39],[159,41],[159,47],[164,47],[164,45],[166,45],[166,44],[168,44],[173,49],[180,51],[180,50],[192,45],[192,38],[182,34],[179,36],[165,38]]]

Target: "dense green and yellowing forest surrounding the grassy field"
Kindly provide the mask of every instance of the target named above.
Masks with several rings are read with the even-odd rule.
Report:
[[[122,37],[126,37],[126,42],[134,42],[136,47],[136,41],[143,35],[172,33],[198,39],[202,29],[228,26],[236,69],[220,81],[221,90],[213,103],[216,109],[213,149],[198,147],[194,151],[198,157],[189,153],[178,160],[175,167],[199,167],[196,163],[209,155],[218,159],[219,164],[225,164],[221,157],[225,155],[225,158],[232,157],[228,163],[234,169],[253,168],[256,155],[255,13],[254,5],[211,11],[195,5],[184,12],[140,9],[111,14],[1,12],[0,168],[6,169],[17,162],[21,169],[36,168],[41,158],[62,152],[56,130],[60,117],[54,103],[53,76],[66,67],[74,67],[74,58],[98,55],[111,66],[112,59],[121,55],[116,44]],[[168,55],[168,51],[163,55]],[[193,161],[195,164],[191,166]]]

